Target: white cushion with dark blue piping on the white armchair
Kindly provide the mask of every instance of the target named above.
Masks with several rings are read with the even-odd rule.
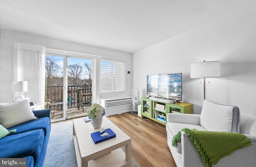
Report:
[[[240,111],[237,106],[223,105],[205,99],[200,124],[208,131],[240,132]]]

